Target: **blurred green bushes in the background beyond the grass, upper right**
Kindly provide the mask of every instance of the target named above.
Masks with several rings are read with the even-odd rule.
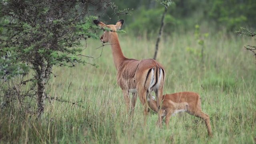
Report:
[[[126,28],[135,35],[144,32],[156,38],[164,7],[159,0],[113,0],[119,8],[133,8],[131,15],[123,16]],[[165,0],[162,0],[165,1]],[[111,11],[103,17],[108,20]],[[164,20],[164,34],[188,32],[196,24],[213,32],[234,32],[241,26],[256,29],[254,0],[172,0]],[[115,20],[112,19],[111,23]],[[150,36],[148,35],[148,36]]]

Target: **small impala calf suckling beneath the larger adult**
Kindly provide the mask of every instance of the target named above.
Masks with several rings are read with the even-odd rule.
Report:
[[[149,107],[158,112],[156,101],[150,96],[148,97]],[[195,92],[177,92],[174,94],[165,94],[162,103],[162,119],[164,116],[166,127],[169,127],[170,117],[177,112],[187,112],[190,115],[202,118],[206,124],[208,135],[212,136],[212,128],[208,114],[202,112],[201,97]]]

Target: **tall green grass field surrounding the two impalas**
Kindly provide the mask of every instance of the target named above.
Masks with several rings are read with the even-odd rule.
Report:
[[[128,58],[152,58],[155,40],[119,34]],[[246,44],[255,41],[236,34],[210,34],[205,40],[204,63],[200,45],[192,33],[173,34],[160,43],[157,60],[166,69],[164,93],[198,92],[202,110],[209,114],[213,138],[204,121],[189,114],[176,114],[160,129],[157,114],[150,112],[144,126],[143,109],[137,101],[135,114],[126,113],[122,91],[116,83],[110,46],[102,56],[99,40],[89,40],[84,54],[100,67],[78,65],[54,67],[47,87],[50,96],[78,102],[46,102],[40,119],[18,109],[0,113],[0,143],[256,143],[256,64]],[[96,59],[97,58],[97,59]]]

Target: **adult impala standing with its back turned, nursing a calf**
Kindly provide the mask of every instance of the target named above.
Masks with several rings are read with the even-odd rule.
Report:
[[[135,60],[126,58],[122,53],[117,30],[119,30],[124,20],[119,20],[115,25],[106,25],[99,20],[94,20],[94,24],[100,26],[104,33],[100,41],[109,42],[112,48],[114,64],[117,70],[117,82],[123,90],[126,108],[130,107],[129,92],[132,93],[132,112],[137,99],[137,92],[140,102],[144,106],[144,114],[148,114],[147,96],[151,91],[156,93],[156,106],[160,109],[162,102],[162,90],[164,85],[165,71],[163,66],[153,59]],[[162,110],[158,111],[158,122],[161,126]]]

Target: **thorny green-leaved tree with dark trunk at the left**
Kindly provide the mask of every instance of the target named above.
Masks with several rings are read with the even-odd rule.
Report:
[[[104,1],[98,3],[104,4]],[[6,79],[15,74],[26,73],[24,69],[30,68],[33,71],[28,80],[22,79],[19,86],[15,87],[16,93],[22,99],[26,96],[36,96],[38,116],[44,111],[46,84],[50,79],[52,67],[72,67],[76,63],[90,64],[79,57],[84,55],[81,55],[82,48],[77,47],[81,46],[82,38],[96,38],[96,34],[89,31],[95,28],[90,23],[92,17],[84,18],[88,14],[88,6],[91,5],[98,4],[77,0],[3,0],[0,3],[0,50],[1,55],[6,55],[4,62],[9,62],[2,64],[4,73],[0,74]],[[11,66],[12,64],[15,64],[15,67]],[[27,82],[34,83],[30,85],[31,92],[21,93],[21,87]]]

